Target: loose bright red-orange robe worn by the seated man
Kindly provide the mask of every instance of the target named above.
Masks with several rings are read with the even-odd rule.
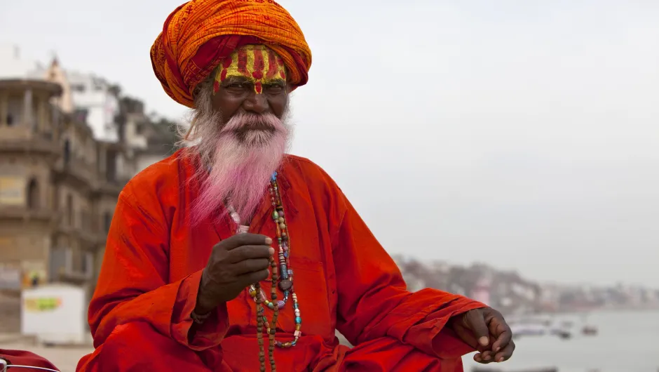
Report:
[[[233,234],[228,216],[191,228],[187,214],[198,194],[188,182],[192,171],[177,153],[121,192],[89,307],[96,350],[77,371],[259,371],[256,307],[247,290],[189,337],[201,270],[212,246]],[[484,305],[430,288],[407,291],[346,196],[311,161],[287,156],[278,183],[302,317],[297,345],[275,350],[278,370],[462,371],[461,356],[473,349],[446,324]],[[250,232],[273,237],[270,216],[264,198]],[[269,282],[261,286],[269,293]],[[357,346],[339,345],[335,330]],[[278,340],[292,340],[291,304],[280,310],[276,331]]]

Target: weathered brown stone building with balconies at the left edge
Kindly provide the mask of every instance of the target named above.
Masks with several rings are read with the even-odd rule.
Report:
[[[60,84],[0,80],[0,331],[18,331],[22,288],[64,281],[91,293],[128,180],[121,146],[95,140],[61,100]]]

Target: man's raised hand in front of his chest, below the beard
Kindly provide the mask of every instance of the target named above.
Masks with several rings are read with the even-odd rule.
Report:
[[[195,313],[208,314],[236,298],[250,284],[268,279],[272,239],[259,234],[237,234],[212,248],[201,275]]]

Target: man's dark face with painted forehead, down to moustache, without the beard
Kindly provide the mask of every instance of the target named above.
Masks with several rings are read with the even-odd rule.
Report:
[[[212,108],[224,123],[236,114],[274,114],[282,119],[288,102],[285,67],[266,46],[247,45],[217,69]],[[258,129],[258,128],[254,128]]]

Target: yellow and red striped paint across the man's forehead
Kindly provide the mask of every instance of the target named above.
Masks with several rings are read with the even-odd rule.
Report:
[[[213,84],[215,93],[219,85],[231,77],[247,78],[254,84],[254,91],[260,94],[264,85],[285,82],[286,68],[281,57],[267,46],[246,45],[222,60]]]

